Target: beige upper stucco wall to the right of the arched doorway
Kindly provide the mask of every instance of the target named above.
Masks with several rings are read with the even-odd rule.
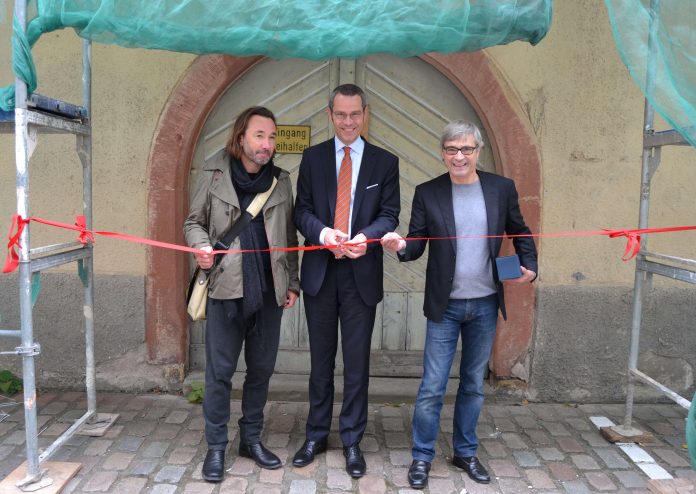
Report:
[[[526,108],[542,152],[542,224],[546,233],[636,228],[643,98],[621,62],[604,2],[555,2],[546,39],[488,50]],[[696,151],[663,153],[651,198],[651,226],[691,225],[696,211]],[[658,252],[694,258],[694,233],[653,236]],[[542,281],[633,283],[620,260],[621,239],[549,238]]]

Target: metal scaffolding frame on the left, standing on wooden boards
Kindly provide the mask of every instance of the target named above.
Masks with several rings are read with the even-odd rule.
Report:
[[[15,16],[26,30],[27,0],[15,0]],[[82,105],[33,94],[27,94],[27,85],[15,79],[15,110],[0,111],[0,132],[14,133],[16,159],[17,214],[29,218],[29,162],[36,148],[39,134],[74,134],[76,151],[82,163],[83,215],[86,228],[92,228],[92,128],[91,128],[91,42],[82,41]],[[113,424],[118,415],[97,414],[96,371],[94,360],[94,291],[92,245],[80,242],[60,243],[31,248],[29,224],[26,224],[19,242],[19,330],[0,329],[0,336],[19,338],[14,351],[0,352],[22,358],[24,387],[24,421],[26,433],[26,468],[21,466],[3,483],[11,482],[21,490],[35,491],[50,487],[55,491],[61,482],[67,482],[80,468],[78,463],[47,462],[40,465],[60,448],[73,434],[99,436]],[[87,411],[53,443],[39,453],[37,431],[36,372],[34,358],[41,346],[34,340],[32,278],[41,271],[76,262],[84,286],[83,324],[85,332],[85,386]],[[24,477],[22,478],[22,475]],[[2,484],[0,484],[0,487]]]

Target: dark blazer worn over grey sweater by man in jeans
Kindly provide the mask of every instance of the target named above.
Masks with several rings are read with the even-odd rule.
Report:
[[[483,171],[477,173],[483,189],[483,199],[486,203],[488,235],[531,233],[520,212],[515,183],[509,178],[493,173]],[[445,173],[416,187],[408,236],[434,238],[455,237],[456,235],[452,206],[452,181],[449,173]],[[502,241],[503,239],[500,237],[489,239],[491,260],[495,260],[500,254]],[[520,256],[520,264],[538,273],[537,251],[532,237],[515,237],[512,242],[515,246],[515,252]],[[418,259],[423,254],[426,243],[427,240],[407,241],[405,252],[403,255],[399,255],[399,260]],[[456,254],[456,239],[430,242],[428,267],[425,272],[423,312],[425,317],[433,321],[441,321],[447,307],[454,280]],[[503,317],[507,318],[503,284],[498,280],[495,262],[492,262],[492,266],[494,282],[498,288],[500,311]]]

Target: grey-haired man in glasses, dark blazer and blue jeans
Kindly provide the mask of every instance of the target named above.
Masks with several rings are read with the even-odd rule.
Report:
[[[400,261],[418,259],[430,242],[423,310],[427,334],[423,379],[413,414],[411,487],[427,486],[440,411],[457,341],[462,337],[460,381],[454,408],[453,460],[479,483],[490,476],[476,457],[476,423],[483,405],[483,378],[493,348],[498,309],[505,301],[494,259],[507,234],[528,234],[512,180],[478,171],[483,147],[481,132],[467,122],[445,127],[440,139],[448,173],[416,187],[408,242],[396,232],[382,238],[385,249]],[[529,283],[536,278],[537,252],[531,237],[515,237],[521,276],[506,283]]]

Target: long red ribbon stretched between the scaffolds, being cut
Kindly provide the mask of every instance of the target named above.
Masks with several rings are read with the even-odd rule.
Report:
[[[183,252],[200,253],[201,249],[196,249],[193,247],[184,247],[183,245],[171,244],[168,242],[159,242],[157,240],[150,240],[147,238],[134,237],[132,235],[126,235],[123,233],[89,230],[87,229],[84,216],[78,216],[75,219],[74,225],[68,225],[67,223],[59,223],[57,221],[44,220],[42,218],[29,217],[27,219],[22,218],[18,214],[12,215],[12,226],[10,227],[9,242],[7,243],[7,258],[5,260],[5,265],[2,268],[3,273],[11,273],[19,265],[19,238],[22,235],[24,226],[30,221],[36,223],[43,223],[44,225],[55,226],[57,228],[64,228],[66,230],[75,230],[79,232],[77,240],[86,245],[88,243],[95,243],[94,236],[101,235],[104,237],[118,238],[121,240],[126,240],[128,242],[134,242],[138,244],[151,245],[153,247],[162,247],[165,249],[179,250]],[[16,231],[15,231],[16,230]],[[681,232],[686,230],[696,230],[696,226],[672,226],[665,228],[642,228],[634,230],[595,230],[595,231],[583,231],[583,232],[561,232],[561,233],[525,233],[518,235],[468,235],[462,237],[423,237],[423,238],[404,238],[404,240],[452,240],[456,238],[515,238],[515,237],[575,237],[580,235],[607,235],[609,238],[616,237],[626,237],[626,249],[624,250],[621,259],[623,261],[630,261],[638,252],[640,252],[640,237],[644,233],[665,233],[665,232]],[[15,231],[15,233],[12,233]],[[367,239],[364,244],[379,242],[381,239],[372,238]],[[346,242],[344,245],[359,245],[360,243],[351,244]],[[338,247],[338,245],[311,245],[308,247],[276,247],[271,249],[263,249],[262,252],[291,252],[291,251],[307,251],[307,250],[319,250],[319,249],[331,249]],[[230,249],[230,250],[214,250],[213,254],[239,254],[243,252],[254,252],[252,250],[244,249]]]

